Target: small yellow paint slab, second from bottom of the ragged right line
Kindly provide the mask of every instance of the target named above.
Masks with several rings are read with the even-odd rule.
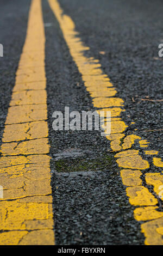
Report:
[[[137,221],[149,221],[163,217],[163,212],[156,211],[158,206],[139,207],[134,210],[134,217]]]

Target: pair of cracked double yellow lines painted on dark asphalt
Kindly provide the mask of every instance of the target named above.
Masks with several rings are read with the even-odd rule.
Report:
[[[125,135],[127,125],[121,119],[123,100],[115,96],[116,89],[103,74],[99,60],[84,56],[83,51],[89,48],[83,45],[72,19],[63,14],[57,0],[48,2],[97,112],[111,111],[111,135],[106,138],[122,168],[129,202],[136,206],[134,217],[145,222],[141,224],[145,243],[163,245],[163,213],[158,211],[158,199],[142,185],[141,179],[141,170],[149,169],[150,165],[139,150],[131,147],[139,142],[144,153],[153,158],[153,164],[163,167],[161,159],[156,157],[158,151],[147,150],[149,143],[134,133]],[[44,58],[41,2],[33,0],[1,147],[0,185],[4,192],[0,202],[3,208],[0,229],[4,230],[0,234],[1,244],[54,244]],[[149,172],[145,180],[159,196],[163,185],[161,173]]]

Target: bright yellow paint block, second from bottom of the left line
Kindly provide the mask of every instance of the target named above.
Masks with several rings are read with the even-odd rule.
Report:
[[[33,230],[47,229],[46,223],[52,223],[51,204],[47,203],[18,203],[0,202],[1,228],[3,230]],[[45,221],[45,223],[43,223]],[[27,228],[28,226],[28,228]],[[53,227],[53,223],[51,225]],[[51,228],[50,227],[50,228]]]

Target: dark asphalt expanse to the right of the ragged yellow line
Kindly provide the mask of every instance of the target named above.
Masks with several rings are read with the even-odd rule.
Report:
[[[155,0],[59,0],[71,16],[87,52],[100,60],[102,69],[124,101],[122,119],[128,129],[151,142],[151,149],[162,152],[163,58],[158,45],[163,42],[163,1]],[[104,51],[105,54],[100,54]],[[149,98],[148,98],[149,97]]]

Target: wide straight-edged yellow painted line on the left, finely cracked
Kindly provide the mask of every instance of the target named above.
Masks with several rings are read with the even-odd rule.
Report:
[[[33,0],[5,121],[0,245],[54,245],[41,0]]]

